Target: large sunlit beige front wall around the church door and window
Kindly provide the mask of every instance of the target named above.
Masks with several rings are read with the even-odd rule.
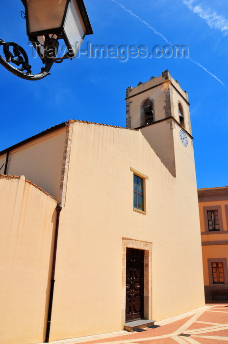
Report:
[[[193,147],[174,135],[178,178],[140,131],[74,123],[51,340],[123,329],[123,238],[152,247],[150,318],[203,306]],[[130,168],[149,177],[146,215],[133,211]]]

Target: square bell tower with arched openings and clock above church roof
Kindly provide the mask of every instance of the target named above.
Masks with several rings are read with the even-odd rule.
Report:
[[[176,177],[177,160],[182,159],[187,145],[192,146],[193,139],[187,92],[166,70],[144,84],[140,82],[134,88],[128,87],[126,102],[127,128],[140,129]],[[192,158],[194,160],[193,150]]]

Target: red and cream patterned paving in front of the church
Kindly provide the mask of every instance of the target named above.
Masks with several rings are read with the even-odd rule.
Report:
[[[228,303],[205,307],[155,322],[150,328],[135,332],[90,336],[55,344],[228,344]]]

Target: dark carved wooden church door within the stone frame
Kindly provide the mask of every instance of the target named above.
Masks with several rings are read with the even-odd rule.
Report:
[[[128,249],[126,255],[126,321],[143,319],[144,251]]]

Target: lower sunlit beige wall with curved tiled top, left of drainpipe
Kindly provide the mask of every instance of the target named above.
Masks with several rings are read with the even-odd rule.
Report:
[[[0,176],[0,196],[0,342],[41,343],[56,201],[24,176]]]

